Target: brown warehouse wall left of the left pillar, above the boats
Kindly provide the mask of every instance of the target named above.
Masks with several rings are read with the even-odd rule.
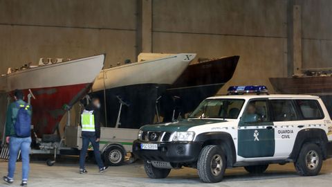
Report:
[[[136,0],[0,0],[0,72],[39,57],[136,57]]]

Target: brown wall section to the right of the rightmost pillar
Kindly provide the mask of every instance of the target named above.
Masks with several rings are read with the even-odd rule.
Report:
[[[304,68],[332,67],[332,1],[297,0],[302,6]]]

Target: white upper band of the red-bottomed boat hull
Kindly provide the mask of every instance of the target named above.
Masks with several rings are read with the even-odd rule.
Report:
[[[91,83],[104,66],[104,55],[84,57],[10,73],[7,91]]]

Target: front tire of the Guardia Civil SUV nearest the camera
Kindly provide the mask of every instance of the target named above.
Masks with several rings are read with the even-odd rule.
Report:
[[[216,145],[207,145],[199,154],[197,170],[199,178],[206,183],[215,183],[223,180],[226,159],[223,150]]]

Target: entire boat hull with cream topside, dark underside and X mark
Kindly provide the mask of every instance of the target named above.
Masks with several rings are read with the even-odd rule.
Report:
[[[176,54],[157,60],[136,62],[103,70],[93,83],[91,96],[102,101],[101,118],[115,127],[120,103],[120,127],[137,129],[154,123],[156,99],[185,71],[196,54]]]

